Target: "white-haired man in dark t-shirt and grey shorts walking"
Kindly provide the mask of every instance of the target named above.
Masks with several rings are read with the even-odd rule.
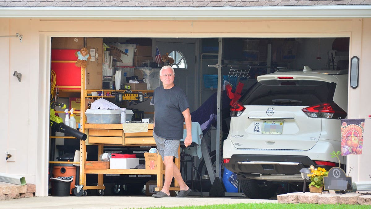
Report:
[[[192,143],[192,122],[188,99],[184,91],[174,85],[174,74],[174,69],[170,65],[161,68],[162,86],[155,89],[150,103],[155,106],[153,137],[165,164],[164,186],[152,197],[170,197],[169,189],[173,177],[180,186],[177,197],[185,197],[191,192],[174,163],[174,157],[179,157],[180,139],[183,139],[183,119],[187,129],[184,145],[188,147]]]

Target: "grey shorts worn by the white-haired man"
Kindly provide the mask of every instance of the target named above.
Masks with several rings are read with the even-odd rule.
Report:
[[[174,156],[178,158],[180,140],[165,139],[157,136],[155,132],[153,132],[153,138],[155,138],[157,149],[161,155],[162,160],[164,160],[164,156]]]

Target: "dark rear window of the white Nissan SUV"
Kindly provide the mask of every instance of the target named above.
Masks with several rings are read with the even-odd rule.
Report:
[[[312,106],[331,102],[336,84],[313,80],[263,80],[243,94],[243,105]]]

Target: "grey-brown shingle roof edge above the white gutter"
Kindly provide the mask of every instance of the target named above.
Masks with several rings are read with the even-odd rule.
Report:
[[[1,7],[269,7],[370,4],[371,0],[0,0]]]

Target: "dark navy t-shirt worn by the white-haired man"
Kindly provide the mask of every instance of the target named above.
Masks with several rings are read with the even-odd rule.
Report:
[[[182,112],[189,107],[184,91],[177,86],[171,89],[159,86],[150,104],[155,106],[155,134],[165,139],[183,139]]]

